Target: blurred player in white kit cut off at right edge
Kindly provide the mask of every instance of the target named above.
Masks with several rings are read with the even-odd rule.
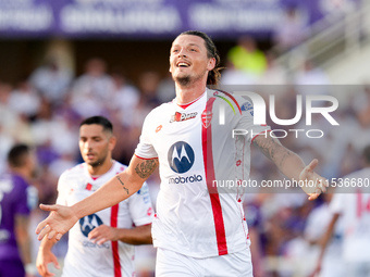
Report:
[[[333,216],[323,236],[316,273],[321,269],[328,242],[341,216],[344,226],[342,260],[345,276],[370,277],[370,146],[365,148],[362,158],[363,168],[342,178],[356,186],[342,190],[338,188],[330,203]]]

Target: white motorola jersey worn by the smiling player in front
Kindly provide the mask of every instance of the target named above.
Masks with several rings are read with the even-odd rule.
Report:
[[[208,99],[205,92],[188,105],[174,100],[152,110],[135,150],[138,158],[158,158],[160,164],[155,247],[194,257],[223,255],[249,245],[243,189],[220,188],[214,181],[248,179],[250,142],[268,129],[254,126],[249,101],[225,92],[208,93],[214,95]],[[225,108],[224,125],[219,124],[220,105]],[[248,134],[233,138],[233,129]]]

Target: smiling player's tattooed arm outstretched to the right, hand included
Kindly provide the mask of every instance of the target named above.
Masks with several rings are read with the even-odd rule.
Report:
[[[288,150],[279,139],[270,136],[258,136],[254,144],[269,158],[278,168],[288,178],[300,181],[303,190],[309,196],[309,200],[317,199],[325,191],[328,180],[314,172],[318,160],[312,160],[307,166],[299,155]]]

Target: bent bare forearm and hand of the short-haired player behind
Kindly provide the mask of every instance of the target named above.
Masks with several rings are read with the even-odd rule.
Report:
[[[99,245],[109,240],[120,240],[134,245],[151,244],[151,224],[137,226],[132,229],[113,228],[108,225],[100,225],[88,234],[88,238]]]

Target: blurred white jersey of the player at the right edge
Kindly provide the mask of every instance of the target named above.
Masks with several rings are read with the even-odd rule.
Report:
[[[370,262],[370,168],[351,173],[344,180],[356,180],[357,192],[341,190],[330,204],[333,213],[341,214],[344,225],[343,259],[345,262]],[[362,185],[361,185],[362,184]],[[353,184],[355,185],[355,184]],[[351,189],[351,188],[350,188]]]

